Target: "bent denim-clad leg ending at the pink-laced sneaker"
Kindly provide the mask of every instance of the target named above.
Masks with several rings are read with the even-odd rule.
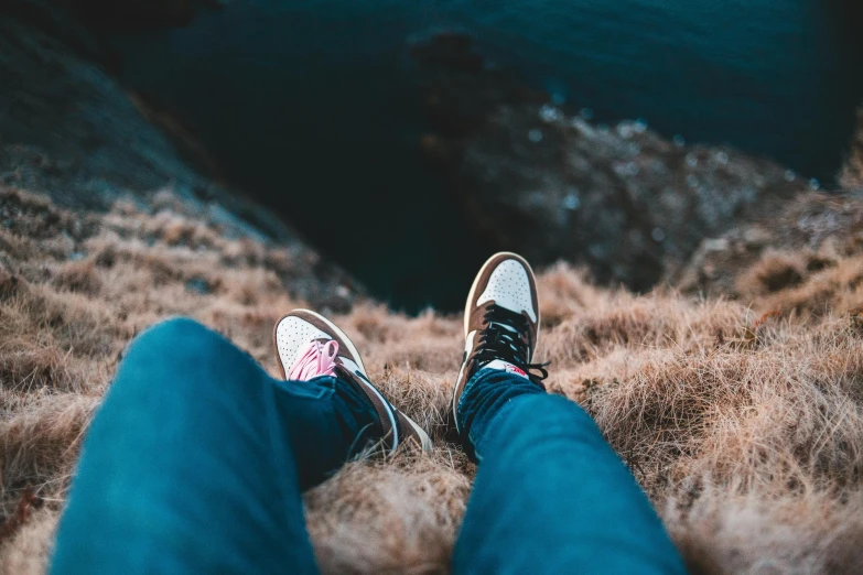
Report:
[[[52,573],[316,573],[301,491],[376,422],[347,383],[278,381],[216,333],[162,323],[90,426]]]

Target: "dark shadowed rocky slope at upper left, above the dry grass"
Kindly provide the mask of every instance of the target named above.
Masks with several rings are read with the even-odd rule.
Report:
[[[74,6],[84,4],[96,2]],[[273,214],[194,167],[152,112],[115,82],[104,58],[88,29],[62,8],[31,0],[4,4],[0,185],[47,194],[62,207],[100,211],[118,200],[149,210],[171,197],[226,237],[278,243],[317,261]],[[358,290],[332,265],[316,263],[311,271],[316,280],[285,288],[334,308],[345,308]]]

